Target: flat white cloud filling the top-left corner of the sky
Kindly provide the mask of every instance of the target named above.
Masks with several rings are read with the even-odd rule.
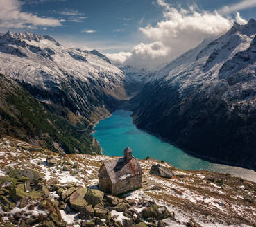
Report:
[[[37,26],[61,26],[64,20],[38,17],[33,13],[22,12],[22,2],[0,0],[0,28],[31,28]]]

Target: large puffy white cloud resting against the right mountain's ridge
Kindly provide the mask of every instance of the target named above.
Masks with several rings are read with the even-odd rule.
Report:
[[[225,33],[234,22],[219,12],[199,10],[195,5],[185,10],[182,7],[174,8],[163,0],[158,0],[157,3],[164,8],[163,20],[155,26],[149,24],[139,28],[144,38],[148,39],[148,43],[135,46],[125,55],[123,52],[108,55],[114,64],[132,64],[152,69],[194,48],[203,39]],[[118,59],[118,55],[121,60]]]

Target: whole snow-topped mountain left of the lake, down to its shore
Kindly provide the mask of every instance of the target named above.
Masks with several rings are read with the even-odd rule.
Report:
[[[79,139],[86,134],[86,144],[92,147],[89,134],[95,122],[108,116],[129,93],[125,74],[105,55],[66,48],[47,35],[0,34],[0,72],[22,84],[46,110],[64,120],[63,127],[70,129],[71,125],[69,133]],[[60,148],[90,153],[82,147]]]

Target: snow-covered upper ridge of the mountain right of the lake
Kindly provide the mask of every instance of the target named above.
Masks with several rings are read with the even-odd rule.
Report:
[[[201,80],[216,79],[223,63],[249,48],[255,34],[254,19],[245,25],[235,23],[225,35],[215,40],[206,39],[155,74],[164,80],[182,81],[182,88]]]

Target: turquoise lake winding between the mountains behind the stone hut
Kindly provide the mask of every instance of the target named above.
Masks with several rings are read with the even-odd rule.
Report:
[[[244,179],[256,181],[256,172],[241,167],[232,167],[195,158],[181,149],[157,138],[133,125],[131,111],[118,110],[112,116],[101,120],[93,134],[101,145],[102,152],[108,156],[123,156],[127,146],[133,149],[133,156],[144,159],[146,156],[163,160],[182,170],[209,170],[230,173]]]

